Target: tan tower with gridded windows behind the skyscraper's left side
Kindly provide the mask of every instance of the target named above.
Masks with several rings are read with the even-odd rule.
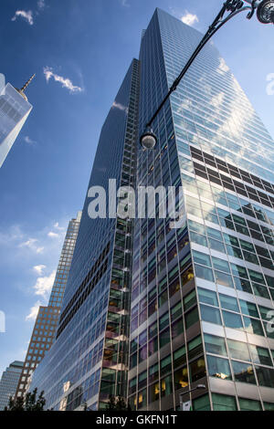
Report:
[[[48,300],[48,305],[47,307],[39,307],[38,309],[37,319],[26,351],[24,367],[16,386],[16,397],[25,395],[31,382],[33,372],[55,340],[59,312],[68,281],[68,273],[79,232],[80,219],[81,212],[78,213],[75,219],[71,219],[68,224],[68,230],[59,258],[57,274]]]

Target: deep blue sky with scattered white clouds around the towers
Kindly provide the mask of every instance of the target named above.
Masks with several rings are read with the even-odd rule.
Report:
[[[222,0],[1,0],[0,73],[34,106],[0,169],[0,376],[24,360],[105,120],[154,9],[205,33]],[[273,26],[237,16],[214,37],[274,136]]]

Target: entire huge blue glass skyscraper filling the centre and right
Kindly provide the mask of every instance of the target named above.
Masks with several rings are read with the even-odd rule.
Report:
[[[90,186],[174,186],[184,215],[91,220],[87,197],[32,383],[55,410],[109,394],[142,411],[178,410],[180,395],[197,411],[274,409],[274,141],[213,44],[154,120],[158,146],[136,139],[201,37],[156,9],[103,126]]]

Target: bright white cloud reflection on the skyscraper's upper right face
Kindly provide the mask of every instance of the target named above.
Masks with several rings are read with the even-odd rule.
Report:
[[[224,74],[228,71],[229,68],[225,60],[219,58],[219,65],[216,68],[216,72]],[[273,159],[273,152],[268,150],[266,144],[255,140],[255,136],[249,136],[252,133],[250,131],[250,124],[253,124],[257,120],[256,113],[246,98],[245,93],[240,88],[236,78],[230,74],[230,79],[228,80],[228,82],[230,81],[229,92],[224,89],[223,92],[218,92],[217,94],[215,87],[211,83],[204,82],[204,77],[199,78],[199,81],[203,83],[205,94],[211,94],[209,104],[214,108],[214,117],[208,112],[205,112],[203,115],[205,127],[217,132],[217,134],[213,135],[211,142],[220,146],[220,148],[211,147],[210,149],[205,144],[205,141],[201,141],[202,147],[206,148],[206,150],[210,149],[210,152],[219,156],[225,157],[228,162],[237,163],[239,166],[248,169],[252,168],[249,161],[259,164],[260,158],[264,157],[261,164],[270,170],[271,162],[269,162],[269,159]],[[245,99],[247,104],[247,109],[244,111],[242,109],[243,99]],[[216,127],[217,122],[219,125]],[[244,158],[247,158],[247,160]]]

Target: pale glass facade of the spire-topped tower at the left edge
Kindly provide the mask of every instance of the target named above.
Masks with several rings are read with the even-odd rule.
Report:
[[[9,83],[0,91],[0,168],[21,131],[31,104]]]

